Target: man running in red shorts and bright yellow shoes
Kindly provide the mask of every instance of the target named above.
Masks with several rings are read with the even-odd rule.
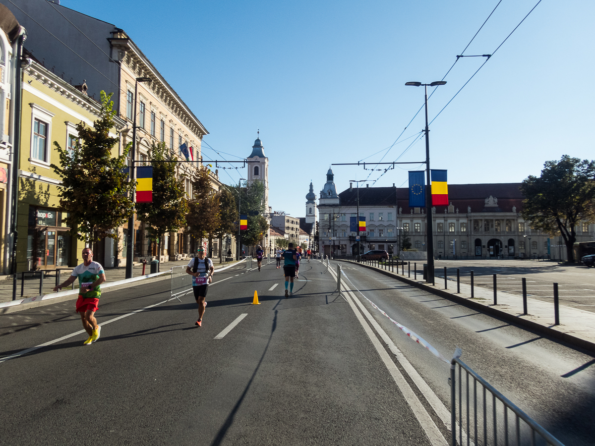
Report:
[[[105,272],[103,266],[93,261],[93,251],[90,248],[83,249],[82,255],[83,263],[76,266],[70,273],[70,277],[54,288],[54,292],[60,291],[77,278],[79,279],[80,290],[79,299],[76,301],[76,311],[80,313],[83,328],[89,334],[89,339],[83,343],[88,346],[98,340],[99,334],[101,334],[101,326],[95,319],[95,312],[99,309],[99,297],[101,297],[99,285],[105,282]]]

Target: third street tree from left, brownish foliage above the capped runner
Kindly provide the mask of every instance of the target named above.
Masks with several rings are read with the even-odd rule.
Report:
[[[194,196],[189,200],[186,224],[190,234],[211,238],[220,225],[219,194],[211,184],[211,170],[202,165],[192,178]]]

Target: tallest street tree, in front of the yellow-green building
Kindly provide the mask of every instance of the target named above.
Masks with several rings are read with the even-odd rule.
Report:
[[[93,128],[82,122],[77,124],[79,139],[73,152],[54,141],[61,167],[51,167],[62,178],[60,211],[70,214],[65,219],[72,228],[70,233],[87,243],[117,237],[111,231],[123,225],[133,212],[133,184],[123,171],[126,155],[111,156],[118,138],[109,136],[115,115],[110,98],[111,95],[101,92],[101,112]]]

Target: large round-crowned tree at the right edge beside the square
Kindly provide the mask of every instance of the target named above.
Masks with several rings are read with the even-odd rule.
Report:
[[[531,175],[522,182],[525,196],[521,215],[531,227],[551,235],[560,233],[568,261],[574,263],[572,245],[581,221],[595,221],[595,161],[570,158],[547,161],[539,178]]]

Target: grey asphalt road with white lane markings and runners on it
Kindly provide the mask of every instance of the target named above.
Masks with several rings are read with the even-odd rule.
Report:
[[[74,301],[0,316],[0,444],[446,445],[449,365],[358,293],[343,300],[320,262],[300,269],[289,299],[273,264],[218,273],[201,328],[192,296],[169,300],[169,281],[107,291],[90,346],[67,337],[82,329]],[[368,269],[345,272],[447,358],[462,347],[567,446],[595,444],[592,356]]]

